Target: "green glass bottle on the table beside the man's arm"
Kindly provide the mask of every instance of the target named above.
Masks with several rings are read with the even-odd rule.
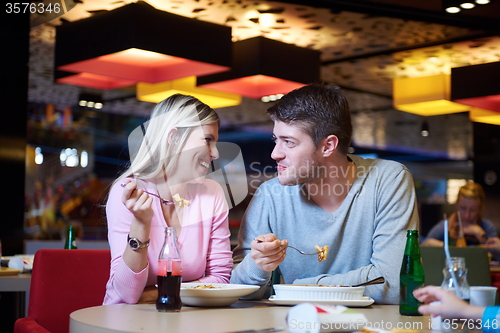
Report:
[[[406,246],[399,274],[399,313],[405,316],[421,316],[418,307],[422,304],[413,291],[424,286],[424,267],[418,245],[418,230],[406,232]]]

